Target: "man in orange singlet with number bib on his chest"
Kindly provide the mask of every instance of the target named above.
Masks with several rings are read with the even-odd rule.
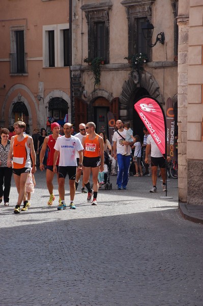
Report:
[[[83,181],[88,189],[87,201],[92,205],[97,205],[97,193],[99,189],[98,173],[104,171],[104,141],[101,136],[95,133],[96,125],[94,122],[88,122],[85,126],[86,136],[82,138],[84,148],[83,154]],[[90,187],[90,174],[93,175],[93,190]]]

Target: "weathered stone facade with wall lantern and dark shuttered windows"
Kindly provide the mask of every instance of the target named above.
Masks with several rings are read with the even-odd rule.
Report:
[[[142,95],[155,97],[165,110],[168,97],[177,107],[178,1],[165,0],[73,1],[71,75],[75,124],[94,121],[97,131],[108,132],[107,113],[130,121],[135,134],[142,134],[142,122],[134,101]],[[142,24],[154,25],[149,42]],[[154,44],[164,32],[163,44]],[[77,38],[77,39],[75,39]],[[125,57],[148,56],[142,69],[132,71]],[[92,66],[84,58],[103,57],[100,83],[94,88]],[[74,86],[76,85],[76,86]],[[176,118],[177,119],[177,118]]]

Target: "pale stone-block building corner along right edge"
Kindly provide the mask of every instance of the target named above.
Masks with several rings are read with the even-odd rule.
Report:
[[[203,205],[203,3],[179,0],[179,199]]]

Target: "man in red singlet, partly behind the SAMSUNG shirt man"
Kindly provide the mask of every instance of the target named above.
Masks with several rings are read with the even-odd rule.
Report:
[[[48,206],[51,206],[53,204],[53,201],[55,199],[55,196],[53,195],[53,176],[54,176],[54,172],[53,172],[53,156],[54,156],[54,145],[56,142],[56,139],[58,137],[61,137],[60,133],[60,125],[57,122],[53,122],[51,123],[51,131],[52,131],[52,135],[49,135],[47,137],[45,137],[43,145],[42,145],[42,149],[40,152],[40,170],[43,171],[44,170],[44,165],[43,165],[43,159],[44,159],[44,155],[46,152],[46,149],[48,148],[48,158],[47,158],[47,166],[46,166],[46,185],[49,191],[49,200],[47,202]],[[57,181],[59,184],[59,158],[57,159],[56,162],[56,168],[57,168]],[[59,204],[61,203],[61,199],[59,199]]]

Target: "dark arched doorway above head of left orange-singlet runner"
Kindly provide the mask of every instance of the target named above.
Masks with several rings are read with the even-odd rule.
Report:
[[[14,122],[16,121],[24,121],[26,124],[26,133],[30,133],[30,126],[29,126],[29,114],[28,110],[26,108],[26,105],[23,101],[17,101],[14,103],[13,109],[12,109]]]

